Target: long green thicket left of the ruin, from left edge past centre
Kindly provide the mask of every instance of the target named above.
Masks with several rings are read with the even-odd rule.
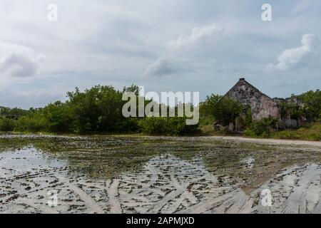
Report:
[[[112,86],[95,86],[81,92],[67,93],[66,102],[56,101],[44,108],[22,110],[0,108],[0,131],[46,133],[144,133],[148,135],[190,135],[198,125],[186,125],[186,118],[125,118],[123,93],[138,97],[138,86],[115,90]],[[151,100],[146,100],[146,104]],[[138,104],[137,104],[138,105]],[[138,108],[137,108],[138,109]]]

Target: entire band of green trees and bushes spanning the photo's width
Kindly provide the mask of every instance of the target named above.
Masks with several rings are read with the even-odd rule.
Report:
[[[230,134],[226,127],[235,120],[242,126],[244,135],[254,138],[288,138],[320,140],[321,127],[321,91],[309,91],[301,95],[292,95],[296,102],[279,103],[281,118],[299,120],[305,118],[305,128],[285,130],[280,120],[267,118],[252,120],[248,105],[240,105],[233,99],[222,95],[209,95],[200,103],[199,125],[186,125],[186,117],[163,118],[125,118],[122,108],[127,100],[123,93],[132,92],[139,98],[138,86],[132,85],[123,90],[113,86],[94,86],[81,92],[78,88],[67,93],[66,102],[56,101],[44,108],[0,107],[0,131],[26,133],[71,133],[71,134],[145,134],[145,135],[224,135]],[[145,100],[145,105],[151,100]],[[138,103],[136,103],[138,111]],[[159,104],[158,104],[159,105]],[[161,110],[161,108],[160,108]],[[168,107],[169,110],[169,107]],[[213,123],[220,130],[213,131]],[[311,123],[315,123],[312,125]],[[225,127],[224,127],[225,126]],[[279,131],[282,130],[282,131]]]

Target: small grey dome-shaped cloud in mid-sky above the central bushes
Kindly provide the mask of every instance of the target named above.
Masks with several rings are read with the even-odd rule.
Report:
[[[172,61],[166,58],[158,58],[157,61],[151,63],[151,65],[146,68],[145,75],[168,76],[176,72],[178,72],[178,68]]]

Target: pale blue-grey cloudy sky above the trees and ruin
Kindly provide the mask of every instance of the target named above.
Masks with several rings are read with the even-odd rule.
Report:
[[[240,77],[271,97],[302,93],[321,87],[320,21],[320,0],[1,0],[0,105],[132,83],[203,100]]]

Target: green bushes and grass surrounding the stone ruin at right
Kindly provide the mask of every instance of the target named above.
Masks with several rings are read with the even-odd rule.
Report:
[[[299,103],[291,100],[300,100]],[[228,130],[213,131],[213,122],[221,125],[233,123],[244,129],[243,135],[251,138],[285,138],[302,140],[321,140],[321,91],[309,91],[301,95],[292,95],[289,102],[279,103],[281,119],[306,119],[307,125],[296,130],[285,130],[284,123],[274,118],[260,121],[252,120],[250,108],[242,106],[221,95],[210,95],[200,104],[200,129],[208,135],[226,135]],[[315,124],[313,124],[315,123]]]

